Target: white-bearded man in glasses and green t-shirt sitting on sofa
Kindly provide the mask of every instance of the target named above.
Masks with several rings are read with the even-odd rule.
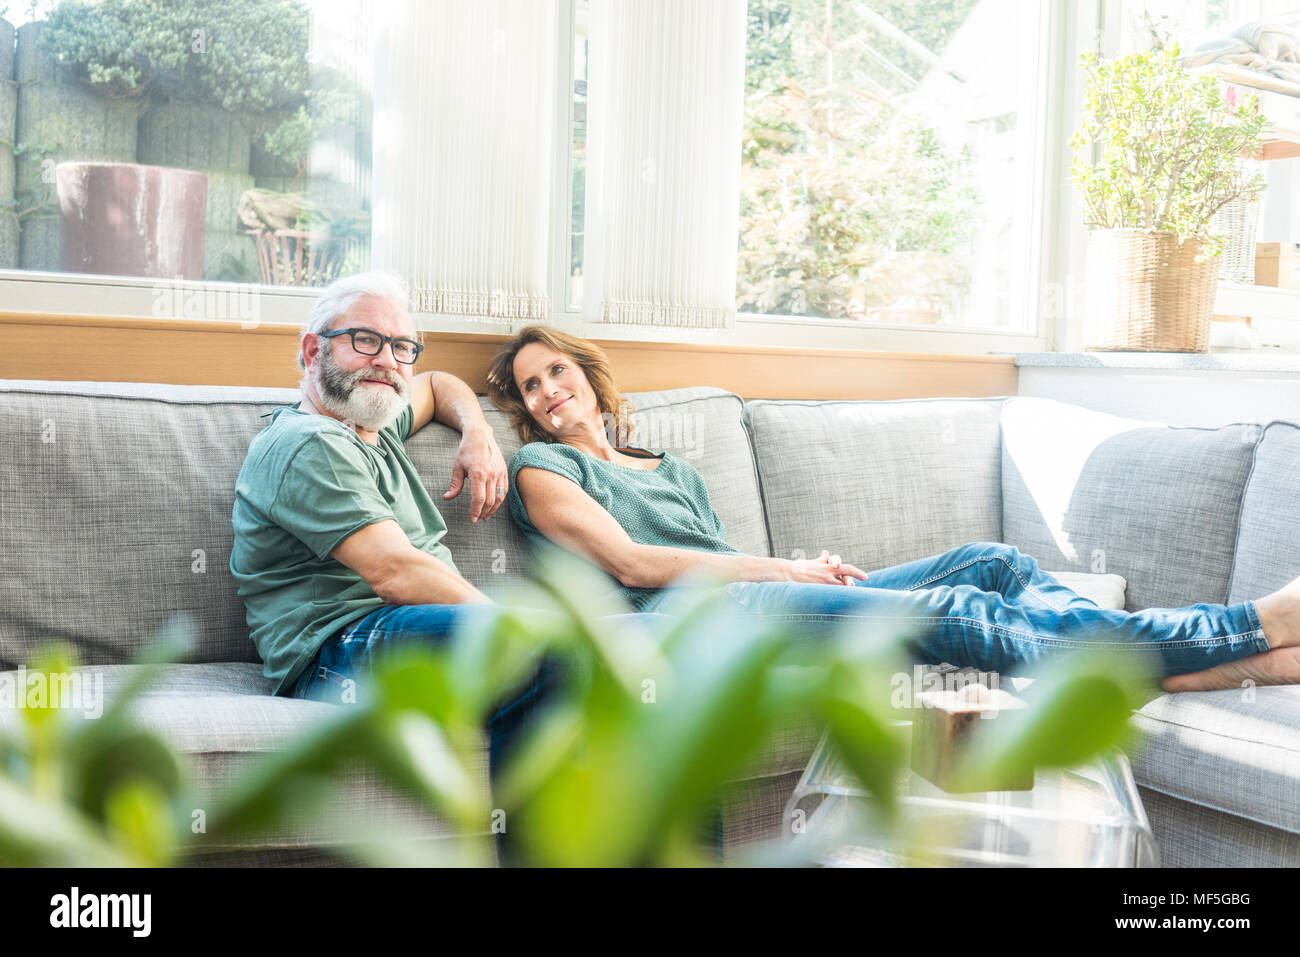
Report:
[[[302,400],[248,446],[230,571],[276,694],[342,701],[376,657],[489,603],[456,571],[403,441],[430,420],[460,432],[443,499],[468,485],[471,521],[504,501],[506,462],[464,382],[412,376],[421,350],[400,280],[332,283],[302,333]]]

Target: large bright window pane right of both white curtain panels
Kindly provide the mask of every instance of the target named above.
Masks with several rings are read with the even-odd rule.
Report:
[[[1032,330],[1045,8],[750,0],[741,312]]]

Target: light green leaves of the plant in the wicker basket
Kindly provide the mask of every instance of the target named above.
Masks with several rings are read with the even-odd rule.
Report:
[[[1201,242],[1205,259],[1227,241],[1209,231],[1214,213],[1265,189],[1262,173],[1242,163],[1261,150],[1265,118],[1257,96],[1235,101],[1217,77],[1191,73],[1179,56],[1173,43],[1113,61],[1091,51],[1080,57],[1087,90],[1070,173],[1087,225],[1176,233]]]

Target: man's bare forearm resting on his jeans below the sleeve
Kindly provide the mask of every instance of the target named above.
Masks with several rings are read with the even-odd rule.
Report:
[[[360,575],[385,605],[490,603],[446,563],[413,546],[393,519],[358,529],[329,554]]]

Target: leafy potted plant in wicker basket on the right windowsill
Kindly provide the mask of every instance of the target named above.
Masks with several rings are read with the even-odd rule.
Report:
[[[1088,70],[1071,178],[1083,194],[1097,350],[1206,352],[1219,255],[1214,215],[1264,191],[1242,165],[1261,147],[1258,99],[1179,65],[1178,44]],[[1093,146],[1098,147],[1092,159]]]

